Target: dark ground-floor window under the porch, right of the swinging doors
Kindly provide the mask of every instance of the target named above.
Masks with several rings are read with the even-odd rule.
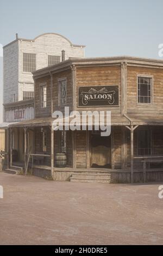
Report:
[[[138,155],[152,154],[152,133],[151,130],[137,131]]]

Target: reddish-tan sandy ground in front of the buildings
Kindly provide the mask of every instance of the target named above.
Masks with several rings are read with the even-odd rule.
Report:
[[[1,172],[0,185],[1,245],[163,244],[160,184],[54,182]]]

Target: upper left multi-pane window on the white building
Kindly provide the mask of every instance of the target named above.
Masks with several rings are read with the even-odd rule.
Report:
[[[36,54],[23,53],[23,72],[33,72],[36,70]]]

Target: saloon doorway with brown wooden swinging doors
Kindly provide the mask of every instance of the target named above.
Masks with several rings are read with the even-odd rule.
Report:
[[[102,137],[101,131],[92,131],[91,167],[111,168],[111,135]]]

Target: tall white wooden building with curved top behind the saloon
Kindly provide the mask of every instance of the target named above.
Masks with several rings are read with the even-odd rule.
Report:
[[[33,98],[32,71],[60,62],[62,50],[65,50],[65,59],[82,58],[84,47],[84,45],[74,45],[65,36],[56,33],[42,34],[35,39],[18,38],[16,34],[16,40],[3,47],[3,103]]]

